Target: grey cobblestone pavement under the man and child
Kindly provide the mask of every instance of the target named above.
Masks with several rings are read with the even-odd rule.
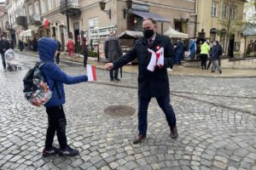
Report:
[[[44,107],[23,99],[22,78],[36,58],[20,55],[22,71],[0,71],[0,169],[229,169],[256,170],[256,78],[170,77],[179,136],[171,139],[156,100],[148,108],[148,138],[132,144],[137,116],[108,116],[109,105],[137,109],[137,75],[65,86],[68,143],[80,156],[43,158]],[[70,75],[79,65],[61,63]],[[55,141],[57,144],[57,141]]]

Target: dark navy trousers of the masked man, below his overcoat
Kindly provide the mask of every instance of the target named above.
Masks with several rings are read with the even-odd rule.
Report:
[[[151,98],[139,97],[138,99],[138,131],[140,135],[146,135],[148,129],[148,104]],[[166,114],[169,127],[176,126],[176,116],[170,104],[170,95],[156,98],[158,105]]]

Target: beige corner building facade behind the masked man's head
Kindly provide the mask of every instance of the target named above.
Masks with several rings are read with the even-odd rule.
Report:
[[[117,35],[123,31],[142,31],[143,18],[158,20],[158,32],[162,33],[168,26],[177,31],[195,37],[195,1],[191,0],[148,0],[128,1],[107,0],[105,8],[100,8],[98,0],[80,1],[80,15],[70,17],[70,31],[76,37],[87,37],[91,46],[108,37],[109,31]],[[160,17],[160,18],[158,18]]]

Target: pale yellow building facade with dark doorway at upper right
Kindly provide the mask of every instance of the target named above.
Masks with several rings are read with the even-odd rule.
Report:
[[[218,40],[223,46],[224,54],[231,57],[240,56],[241,23],[245,2],[245,0],[198,0],[196,26],[198,37],[204,37],[210,42]],[[229,32],[230,36],[228,36]]]

